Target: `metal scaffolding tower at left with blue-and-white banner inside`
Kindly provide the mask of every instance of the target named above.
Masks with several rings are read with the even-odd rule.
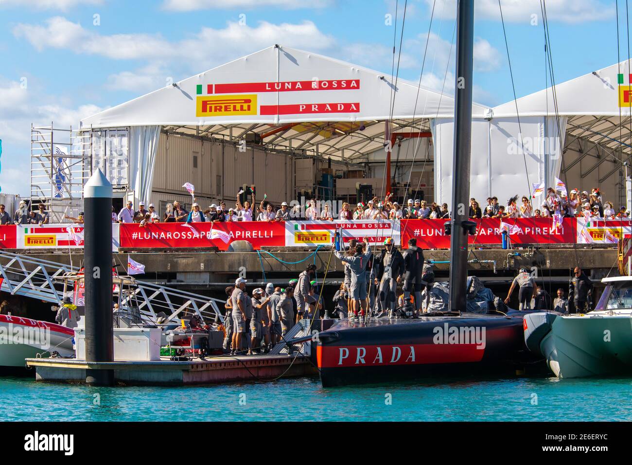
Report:
[[[83,210],[83,185],[92,174],[90,132],[35,127],[31,125],[30,209],[43,203],[51,223],[68,223],[66,218]]]

